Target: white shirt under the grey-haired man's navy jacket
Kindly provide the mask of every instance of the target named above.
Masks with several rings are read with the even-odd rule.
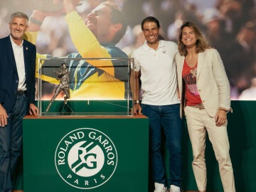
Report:
[[[11,36],[10,36],[11,38]],[[26,73],[25,73],[25,63],[24,63],[24,54],[23,54],[23,42],[18,46],[11,39],[11,46],[14,50],[14,58],[16,62],[16,68],[18,72],[18,90],[26,90]]]

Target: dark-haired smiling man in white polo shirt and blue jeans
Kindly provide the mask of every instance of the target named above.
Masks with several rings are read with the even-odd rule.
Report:
[[[176,43],[159,40],[159,21],[153,16],[144,18],[142,31],[143,46],[134,51],[134,113],[149,117],[150,148],[155,190],[181,191],[181,117],[176,81],[174,55]],[[139,104],[139,74],[142,81],[142,107]],[[131,81],[132,82],[132,81]],[[161,153],[161,129],[164,129],[166,148],[169,151],[169,174],[164,173],[164,156]]]

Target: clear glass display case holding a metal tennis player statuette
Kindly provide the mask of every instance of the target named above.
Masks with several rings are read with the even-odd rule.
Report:
[[[39,115],[133,115],[132,62],[132,58],[39,59]]]

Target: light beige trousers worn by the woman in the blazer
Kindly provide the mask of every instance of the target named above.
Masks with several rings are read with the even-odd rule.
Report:
[[[210,117],[206,110],[185,107],[188,134],[193,150],[193,172],[199,191],[206,191],[206,132],[213,145],[215,158],[218,161],[220,178],[225,192],[235,192],[233,167],[230,160],[227,124],[221,127],[215,125],[215,118]]]

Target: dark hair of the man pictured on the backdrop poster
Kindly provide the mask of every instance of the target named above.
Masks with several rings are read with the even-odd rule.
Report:
[[[110,7],[110,9],[112,10],[111,11],[112,23],[121,23],[122,24],[121,30],[115,34],[114,39],[113,39],[114,43],[118,43],[120,41],[120,39],[124,36],[124,33],[127,30],[127,21],[124,16],[124,12],[119,8],[118,4],[115,4],[113,2],[105,1],[102,4]]]

